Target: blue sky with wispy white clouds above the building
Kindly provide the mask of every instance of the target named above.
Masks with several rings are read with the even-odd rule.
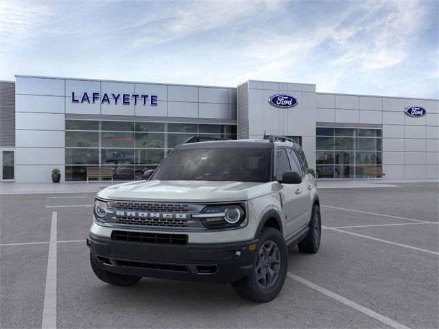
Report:
[[[1,0],[14,75],[439,98],[439,1]]]

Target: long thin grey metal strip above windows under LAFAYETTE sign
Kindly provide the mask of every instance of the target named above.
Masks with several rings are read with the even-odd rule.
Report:
[[[66,119],[104,120],[104,121],[149,121],[149,122],[176,122],[176,123],[213,123],[221,125],[236,125],[232,119],[206,119],[206,118],[178,118],[178,117],[143,117],[128,115],[98,115],[98,114],[66,114]]]

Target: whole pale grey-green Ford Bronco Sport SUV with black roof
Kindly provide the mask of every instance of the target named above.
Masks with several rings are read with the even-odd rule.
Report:
[[[317,184],[305,154],[281,136],[189,139],[145,180],[97,193],[91,267],[109,284],[144,276],[231,283],[241,297],[269,302],[285,281],[287,247],[320,246]]]

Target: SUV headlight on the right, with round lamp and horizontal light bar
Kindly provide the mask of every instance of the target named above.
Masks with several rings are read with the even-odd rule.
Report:
[[[206,206],[200,214],[192,215],[192,218],[200,219],[206,228],[235,228],[245,225],[246,212],[239,204],[224,204]]]

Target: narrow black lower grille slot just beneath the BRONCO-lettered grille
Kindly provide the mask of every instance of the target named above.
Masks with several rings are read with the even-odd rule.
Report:
[[[114,241],[158,243],[162,245],[187,245],[187,234],[112,231],[111,239]]]

